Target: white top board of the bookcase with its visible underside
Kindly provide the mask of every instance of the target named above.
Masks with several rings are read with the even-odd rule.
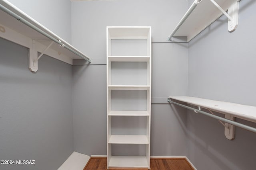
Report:
[[[107,27],[109,39],[148,39],[150,27]]]

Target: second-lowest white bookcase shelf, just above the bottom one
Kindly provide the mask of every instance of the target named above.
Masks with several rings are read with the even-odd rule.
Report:
[[[148,144],[146,135],[110,135],[108,143],[111,144]]]

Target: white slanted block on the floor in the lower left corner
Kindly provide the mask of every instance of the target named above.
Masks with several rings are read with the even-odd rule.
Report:
[[[82,170],[89,159],[88,155],[73,152],[58,170]]]

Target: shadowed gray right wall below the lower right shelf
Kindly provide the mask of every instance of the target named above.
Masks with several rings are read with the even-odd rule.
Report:
[[[223,117],[222,114],[216,115]],[[224,135],[224,127],[216,119],[188,111],[186,145],[188,158],[200,169],[253,170],[256,159],[256,135],[239,127],[235,139]],[[256,127],[255,123],[237,119]]]

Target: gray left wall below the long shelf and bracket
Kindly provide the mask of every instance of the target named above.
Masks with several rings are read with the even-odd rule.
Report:
[[[28,49],[0,39],[1,170],[56,170],[74,151],[72,66],[48,56],[28,69]],[[35,160],[18,165],[16,160]]]

